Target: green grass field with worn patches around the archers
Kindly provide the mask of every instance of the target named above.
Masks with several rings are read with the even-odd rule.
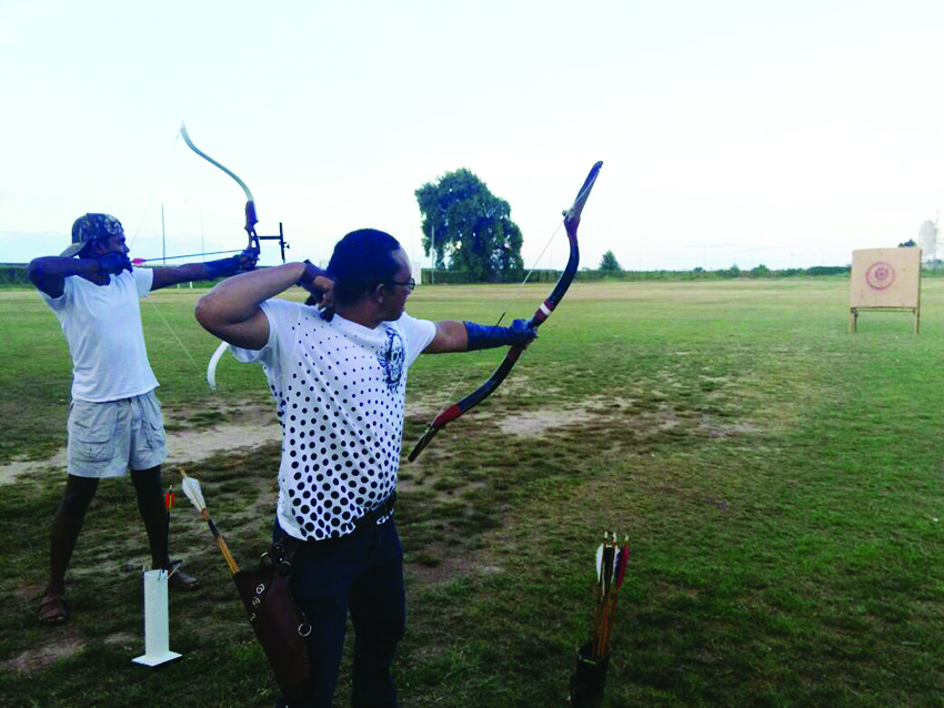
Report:
[[[575,285],[493,398],[401,469],[402,704],[565,706],[595,546],[615,530],[632,555],[604,705],[944,706],[944,281],[925,281],[917,336],[908,315],[878,313],[847,334],[847,286]],[[510,316],[530,315],[545,290],[426,286],[409,310],[493,322],[509,301]],[[229,357],[220,392],[207,391],[215,342],[192,320],[199,294],[143,309],[178,427],[268,397],[261,372]],[[0,292],[0,463],[41,458],[64,443],[64,341],[33,292]],[[404,449],[458,377],[453,399],[500,358],[421,357]],[[277,464],[270,445],[188,467],[243,565],[265,546]],[[0,487],[0,705],[274,705],[225,565],[185,506],[173,545],[203,588],[171,596],[171,648],[184,656],[131,663],[147,553],[127,479],[102,484],[89,513],[73,619],[37,625],[62,478]]]

